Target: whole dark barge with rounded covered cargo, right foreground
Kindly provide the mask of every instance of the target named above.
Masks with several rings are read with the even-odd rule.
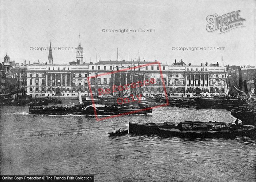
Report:
[[[251,135],[255,126],[235,125],[225,122],[180,122],[177,128],[160,128],[161,136],[176,136],[185,138],[233,138],[236,136]]]

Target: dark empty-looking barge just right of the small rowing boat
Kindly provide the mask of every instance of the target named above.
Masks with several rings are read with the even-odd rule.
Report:
[[[129,122],[129,133],[134,134],[157,134],[159,128],[176,128],[177,123],[154,123],[155,125],[150,125],[152,123],[132,123]]]

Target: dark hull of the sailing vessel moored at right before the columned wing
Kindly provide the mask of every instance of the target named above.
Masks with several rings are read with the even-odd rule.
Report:
[[[246,100],[238,99],[207,99],[195,98],[196,105],[199,108],[211,109],[229,109],[229,107],[241,107],[248,105]]]

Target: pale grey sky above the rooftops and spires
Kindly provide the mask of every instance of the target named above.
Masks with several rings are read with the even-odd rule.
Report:
[[[208,15],[237,10],[243,27],[206,30]],[[45,63],[48,50],[39,49],[51,42],[54,64],[68,64],[80,35],[87,63],[117,60],[118,49],[119,60],[136,60],[140,52],[146,61],[200,65],[220,63],[223,55],[225,65],[255,65],[255,12],[255,0],[0,0],[0,57]],[[107,32],[119,29],[145,32]],[[215,50],[177,50],[190,47]]]

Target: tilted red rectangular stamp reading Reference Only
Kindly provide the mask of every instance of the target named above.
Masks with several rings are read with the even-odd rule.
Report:
[[[97,121],[128,114],[147,114],[154,108],[169,105],[166,79],[163,78],[160,62],[138,66],[133,63],[133,67],[131,64],[128,68],[120,65],[111,72],[100,70],[101,73],[98,73],[97,69],[95,75],[88,77],[92,107]],[[157,66],[157,71],[147,71],[148,67],[154,70],[154,66]],[[156,79],[157,75],[159,78]],[[159,88],[159,94],[151,93],[155,87]],[[160,89],[163,92],[161,94]],[[158,101],[160,95],[166,98],[166,103]],[[95,96],[98,96],[98,99]]]

